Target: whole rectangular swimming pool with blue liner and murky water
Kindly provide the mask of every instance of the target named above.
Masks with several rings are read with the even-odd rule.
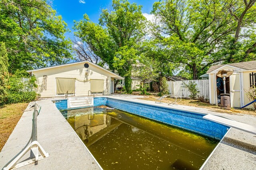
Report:
[[[56,107],[104,169],[199,169],[229,128],[204,114],[113,98],[94,98],[94,107],[83,109],[65,110],[64,100]]]

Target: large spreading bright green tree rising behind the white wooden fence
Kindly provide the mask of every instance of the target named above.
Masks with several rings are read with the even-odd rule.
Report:
[[[155,16],[153,37],[159,41],[162,49],[168,50],[169,61],[183,64],[193,79],[197,79],[211,64],[230,61],[234,57],[230,55],[230,41],[238,30],[238,22],[234,21],[234,16],[230,14],[230,3],[236,4],[238,1],[155,2],[152,10]],[[239,7],[236,5],[237,8]],[[239,30],[256,21],[254,17],[252,20],[249,22],[243,18]]]

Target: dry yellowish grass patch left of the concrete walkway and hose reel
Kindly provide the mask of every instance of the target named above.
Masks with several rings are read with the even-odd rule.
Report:
[[[17,125],[28,103],[8,104],[0,107],[0,151]]]

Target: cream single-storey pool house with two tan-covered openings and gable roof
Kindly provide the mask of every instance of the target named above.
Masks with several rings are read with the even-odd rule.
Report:
[[[90,61],[62,64],[28,70],[36,76],[36,89],[40,98],[65,96],[87,96],[88,94],[114,93],[114,79],[121,76]]]

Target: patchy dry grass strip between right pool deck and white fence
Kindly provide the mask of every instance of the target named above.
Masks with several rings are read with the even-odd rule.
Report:
[[[157,98],[159,98],[159,96],[146,96],[146,98],[138,98],[138,99],[156,101]],[[164,103],[170,103],[173,101],[174,101],[174,98],[164,98],[162,100],[162,102],[164,102]],[[231,110],[226,110],[226,109],[222,109],[219,106],[211,105],[209,102],[204,103],[204,102],[200,102],[198,100],[192,100],[192,99],[182,99],[180,102],[178,102],[178,104],[185,105],[185,106],[202,107],[202,108],[210,109],[211,111],[216,111],[216,112],[220,112],[220,113],[229,113],[229,114],[241,113],[241,114],[249,114],[249,115],[256,116],[256,111],[254,111],[252,109],[234,109],[234,108],[232,108]]]

